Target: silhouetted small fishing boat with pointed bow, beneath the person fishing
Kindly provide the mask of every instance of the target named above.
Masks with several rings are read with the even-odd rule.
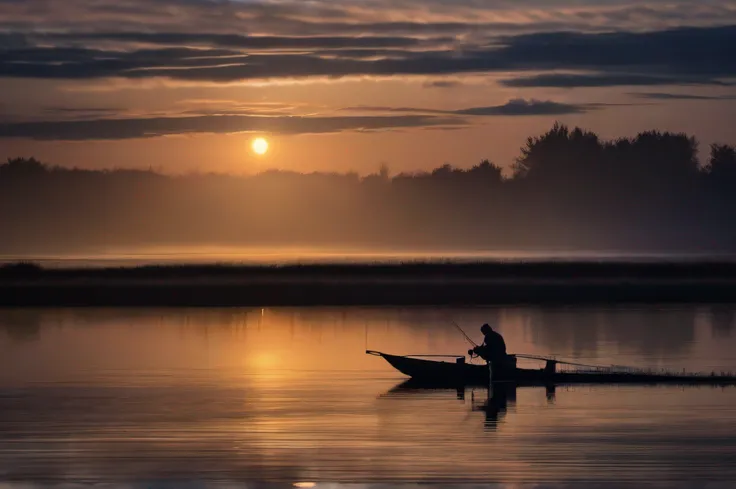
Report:
[[[465,361],[462,355],[390,355],[366,350],[368,355],[382,357],[392,367],[416,382],[443,386],[487,386],[507,382],[517,385],[562,384],[678,384],[736,385],[732,373],[688,373],[645,370],[621,366],[596,366],[567,362],[536,355],[510,355],[510,364],[499,372],[488,365]],[[453,361],[434,358],[453,359]],[[518,359],[544,362],[542,368],[519,368]]]

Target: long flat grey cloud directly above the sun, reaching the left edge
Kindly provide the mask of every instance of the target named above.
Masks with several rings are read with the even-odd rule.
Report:
[[[413,127],[457,126],[457,117],[258,117],[248,115],[205,115],[137,119],[92,119],[0,123],[0,138],[54,141],[116,140],[150,138],[176,134],[266,132],[276,134],[317,134],[342,131],[375,131]]]

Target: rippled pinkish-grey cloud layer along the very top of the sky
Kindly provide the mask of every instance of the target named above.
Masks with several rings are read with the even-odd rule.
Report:
[[[732,0],[23,0],[0,2],[8,31],[466,34],[663,29],[736,22]]]

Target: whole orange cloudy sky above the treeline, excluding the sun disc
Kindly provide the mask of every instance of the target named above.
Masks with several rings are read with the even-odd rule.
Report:
[[[554,121],[736,142],[732,1],[0,0],[0,19],[3,159],[508,167]]]

